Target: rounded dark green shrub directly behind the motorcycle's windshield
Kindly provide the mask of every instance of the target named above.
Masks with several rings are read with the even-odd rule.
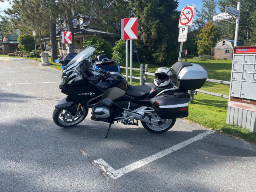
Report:
[[[101,54],[106,54],[108,58],[112,58],[112,47],[111,45],[104,39],[98,38],[98,37],[90,37],[84,40],[83,46],[84,48],[98,44],[98,48],[94,51],[94,54],[101,55]]]

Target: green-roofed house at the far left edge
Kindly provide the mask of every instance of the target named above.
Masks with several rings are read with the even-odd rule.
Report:
[[[8,53],[19,51],[19,42],[17,41],[19,35],[20,30],[16,30],[14,33],[9,33],[7,37],[3,37],[3,41],[0,43],[0,47],[2,48],[1,54],[7,55]]]

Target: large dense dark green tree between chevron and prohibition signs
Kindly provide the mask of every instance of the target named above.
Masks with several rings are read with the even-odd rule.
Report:
[[[132,14],[139,18],[137,46],[144,46],[146,59],[170,65],[178,59],[178,20],[176,0],[131,0]],[[141,42],[141,43],[140,43]]]

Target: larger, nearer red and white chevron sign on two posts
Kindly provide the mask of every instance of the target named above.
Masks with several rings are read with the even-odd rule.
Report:
[[[138,39],[138,17],[121,20],[121,39]]]

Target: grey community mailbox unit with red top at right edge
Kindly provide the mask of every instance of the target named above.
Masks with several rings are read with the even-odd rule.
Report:
[[[236,46],[232,62],[227,124],[256,132],[256,46]]]

